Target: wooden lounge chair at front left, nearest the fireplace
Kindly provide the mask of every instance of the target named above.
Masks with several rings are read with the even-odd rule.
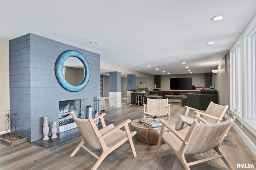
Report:
[[[136,131],[130,132],[128,126],[128,123],[130,123],[131,120],[127,119],[116,127],[114,127],[113,124],[106,126],[103,118],[105,114],[106,113],[102,113],[94,119],[80,119],[76,117],[76,114],[73,111],[71,111],[71,115],[82,134],[82,141],[79,143],[79,145],[70,156],[74,156],[81,147],[84,148],[87,152],[92,154],[92,156],[98,159],[92,167],[92,170],[96,170],[98,166],[100,166],[104,158],[108,156],[108,154],[117,149],[126,141],[129,141],[133,156],[137,156],[132,141],[132,137],[136,134]],[[102,123],[103,128],[100,130],[98,130],[96,124],[94,123],[96,119],[100,119]],[[121,127],[124,127],[125,131],[120,130]],[[92,147],[102,150],[102,154],[98,156],[94,152],[89,150],[87,147],[84,146],[84,143],[86,142]]]

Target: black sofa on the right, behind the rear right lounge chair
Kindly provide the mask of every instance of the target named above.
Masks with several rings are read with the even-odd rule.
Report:
[[[186,105],[199,110],[205,110],[210,102],[219,103],[218,92],[214,89],[201,89],[198,94],[188,93],[186,97],[181,97],[182,106]]]

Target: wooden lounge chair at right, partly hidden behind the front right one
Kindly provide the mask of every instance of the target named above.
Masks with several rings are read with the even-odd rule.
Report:
[[[195,120],[202,121],[204,123],[220,123],[228,109],[228,105],[221,106],[213,102],[210,102],[205,112],[192,107],[185,107],[187,108],[185,115],[179,115],[182,121],[180,129],[183,129],[184,123],[191,125],[192,122]],[[190,109],[194,110],[197,113],[195,115],[195,118],[188,117],[188,112],[190,111]]]

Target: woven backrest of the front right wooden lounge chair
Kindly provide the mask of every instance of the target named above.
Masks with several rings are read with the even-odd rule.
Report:
[[[221,123],[198,123],[194,121],[185,140],[188,141],[185,154],[206,152],[220,145],[232,126],[235,117]]]

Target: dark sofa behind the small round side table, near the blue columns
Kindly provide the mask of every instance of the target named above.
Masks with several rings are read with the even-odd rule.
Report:
[[[154,99],[160,99],[162,96],[158,96],[157,91],[149,91],[148,88],[137,88],[134,89],[133,92],[142,92],[145,91],[145,97],[144,97],[144,103],[147,104],[147,98],[154,98]],[[131,104],[136,103],[136,96],[135,93],[131,93]]]

